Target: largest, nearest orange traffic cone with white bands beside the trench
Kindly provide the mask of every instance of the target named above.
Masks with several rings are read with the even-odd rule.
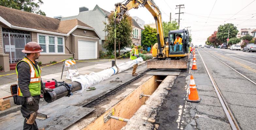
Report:
[[[198,97],[197,87],[193,75],[190,76],[189,92],[186,100],[189,102],[200,102],[201,100],[201,98]]]

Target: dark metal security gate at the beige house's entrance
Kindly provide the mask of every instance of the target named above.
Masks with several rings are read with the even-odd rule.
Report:
[[[2,28],[4,53],[9,54],[9,63],[18,63],[25,54],[21,52],[31,41],[30,32]]]

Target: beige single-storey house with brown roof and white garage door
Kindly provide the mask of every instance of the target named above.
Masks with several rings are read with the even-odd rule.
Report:
[[[60,21],[21,10],[0,6],[0,66],[15,69],[25,56],[26,43],[37,42],[43,48],[42,64],[73,57],[99,58],[100,35],[78,19]]]

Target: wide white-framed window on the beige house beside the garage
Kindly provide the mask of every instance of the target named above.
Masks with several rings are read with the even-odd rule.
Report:
[[[42,53],[64,53],[64,37],[38,34],[38,43],[42,47]]]

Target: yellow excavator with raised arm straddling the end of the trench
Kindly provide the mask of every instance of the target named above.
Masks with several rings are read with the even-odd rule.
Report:
[[[164,37],[162,15],[153,0],[127,0],[124,4],[117,3],[116,7],[116,23],[120,23],[126,11],[138,7],[146,7],[155,19],[157,30],[157,41],[152,47],[152,57],[154,59],[148,61],[149,69],[187,69],[189,58],[189,32],[188,30],[169,31],[168,37]],[[182,38],[183,45],[174,46],[174,40],[178,34]]]

